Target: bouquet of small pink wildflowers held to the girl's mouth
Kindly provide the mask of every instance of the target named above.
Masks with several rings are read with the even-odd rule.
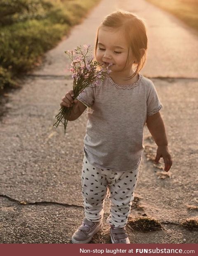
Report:
[[[111,72],[111,70],[108,70],[108,66],[102,67],[101,64],[94,60],[92,55],[90,56],[90,46],[78,46],[74,50],[65,51],[65,53],[71,59],[70,71],[73,77],[73,99],[76,99],[80,92],[91,84],[97,86],[99,80],[104,80],[106,74]],[[65,114],[70,114],[72,108],[73,106],[70,108],[65,106],[61,107],[61,109],[59,109],[59,114],[55,116],[57,121],[53,126],[57,127],[59,123],[63,123],[64,132],[66,133],[68,120],[66,120],[64,116]]]

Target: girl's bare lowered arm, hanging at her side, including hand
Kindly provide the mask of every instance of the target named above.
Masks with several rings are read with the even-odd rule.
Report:
[[[147,116],[146,125],[150,131],[153,139],[158,145],[156,159],[154,163],[158,163],[160,157],[163,157],[165,163],[165,171],[169,171],[172,166],[172,159],[168,151],[168,141],[165,132],[165,126],[160,112],[152,116]]]

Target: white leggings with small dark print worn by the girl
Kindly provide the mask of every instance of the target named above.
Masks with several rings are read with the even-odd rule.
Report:
[[[97,222],[103,218],[104,198],[110,192],[110,215],[107,222],[125,227],[130,215],[139,166],[132,171],[116,172],[92,166],[84,155],[82,165],[82,196],[87,220]]]

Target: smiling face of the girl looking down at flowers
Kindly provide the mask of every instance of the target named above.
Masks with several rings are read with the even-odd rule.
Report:
[[[98,32],[96,59],[101,65],[108,65],[112,73],[130,74],[135,60],[131,49],[128,56],[128,44],[123,31],[101,27]],[[126,65],[126,66],[125,66]]]

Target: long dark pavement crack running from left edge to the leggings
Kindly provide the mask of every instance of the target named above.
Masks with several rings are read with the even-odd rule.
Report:
[[[62,205],[64,207],[78,207],[78,208],[83,208],[83,206],[81,205],[69,205],[69,204],[66,204],[66,203],[58,203],[58,202],[53,202],[53,201],[41,201],[41,202],[34,202],[34,203],[28,203],[26,201],[19,201],[19,200],[16,200],[14,198],[11,198],[10,196],[6,196],[6,195],[0,195],[0,197],[2,198],[7,198],[9,201],[12,201],[14,203],[18,203],[19,205]]]

